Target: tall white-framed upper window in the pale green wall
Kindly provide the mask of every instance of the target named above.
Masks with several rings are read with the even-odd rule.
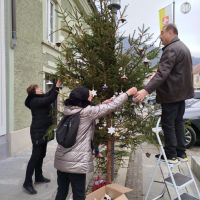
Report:
[[[53,0],[47,0],[47,38],[51,43],[55,42],[55,3]]]

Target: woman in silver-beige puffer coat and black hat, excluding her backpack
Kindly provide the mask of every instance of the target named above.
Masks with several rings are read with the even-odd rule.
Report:
[[[80,111],[80,124],[76,143],[71,148],[58,145],[54,166],[57,169],[58,190],[56,200],[65,200],[71,183],[73,200],[85,200],[86,174],[93,171],[91,141],[93,140],[95,120],[120,107],[128,100],[128,96],[137,93],[135,87],[119,95],[109,103],[91,106],[91,96],[85,87],[72,90],[65,101],[65,115]]]

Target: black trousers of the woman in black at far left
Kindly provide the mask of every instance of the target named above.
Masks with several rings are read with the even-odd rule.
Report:
[[[46,150],[47,150],[47,142],[40,145],[34,144],[32,146],[32,154],[26,169],[26,178],[24,181],[24,185],[32,184],[32,176],[34,171],[35,171],[35,180],[39,180],[40,178],[43,177],[42,164],[43,164],[43,159],[46,156]]]

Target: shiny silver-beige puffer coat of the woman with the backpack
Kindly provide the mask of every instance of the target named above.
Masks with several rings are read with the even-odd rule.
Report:
[[[87,106],[80,112],[80,125],[76,143],[71,148],[58,145],[54,166],[57,170],[68,173],[85,174],[93,171],[91,141],[94,135],[95,119],[103,117],[120,107],[128,96],[123,93],[111,103]],[[64,114],[71,115],[81,110],[80,107],[65,107]]]

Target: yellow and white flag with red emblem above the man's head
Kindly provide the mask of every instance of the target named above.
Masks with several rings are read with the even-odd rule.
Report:
[[[159,18],[160,30],[162,30],[163,26],[173,23],[173,4],[169,4],[168,6],[161,8],[159,10]]]

